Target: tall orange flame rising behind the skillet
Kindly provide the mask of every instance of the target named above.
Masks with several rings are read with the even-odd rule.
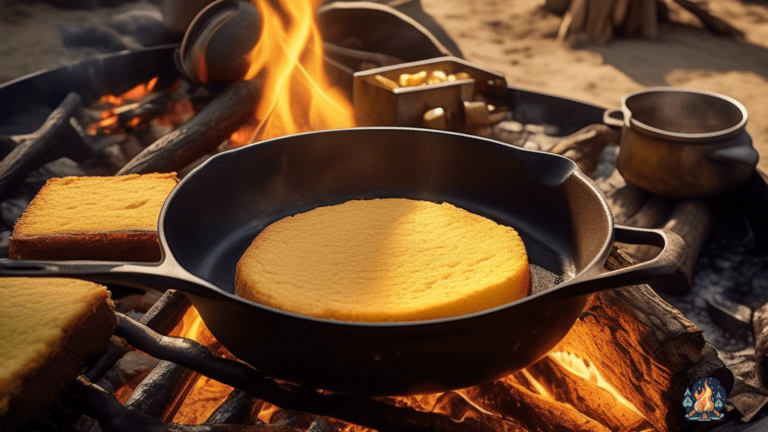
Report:
[[[249,53],[245,79],[262,80],[255,110],[258,127],[249,140],[235,137],[231,145],[354,126],[351,104],[325,75],[322,39],[314,19],[320,2],[253,1],[263,25],[259,42]]]

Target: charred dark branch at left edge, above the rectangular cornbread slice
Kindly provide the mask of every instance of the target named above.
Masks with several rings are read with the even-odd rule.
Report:
[[[72,133],[69,121],[82,102],[80,95],[70,93],[37,131],[15,140],[8,138],[9,141],[17,141],[17,145],[0,161],[0,196],[21,183],[30,171],[64,156],[63,147],[78,144],[71,142],[79,137]],[[70,135],[63,139],[67,132]],[[84,143],[80,144],[80,147],[86,147]]]

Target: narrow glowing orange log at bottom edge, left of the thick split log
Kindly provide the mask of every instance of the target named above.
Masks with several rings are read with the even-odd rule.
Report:
[[[530,373],[559,402],[569,404],[612,431],[645,430],[650,424],[629,407],[618,403],[608,390],[563,369],[552,356],[529,366]]]

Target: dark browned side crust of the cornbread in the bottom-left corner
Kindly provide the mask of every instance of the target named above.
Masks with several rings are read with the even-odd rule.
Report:
[[[23,278],[2,278],[0,284],[18,279]],[[42,278],[35,282],[50,284],[57,280]],[[99,287],[90,282],[82,283]],[[12,374],[21,379],[20,384],[11,389],[0,385],[0,430],[16,430],[42,413],[75,381],[87,360],[107,346],[117,327],[117,318],[109,291],[101,288],[98,295],[89,299],[85,314],[67,323],[61,328],[59,338],[46,341],[44,353]],[[4,346],[3,349],[14,347]],[[2,378],[8,379],[5,375]]]

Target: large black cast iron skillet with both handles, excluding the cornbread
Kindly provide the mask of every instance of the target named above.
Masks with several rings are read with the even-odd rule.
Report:
[[[309,318],[235,297],[235,265],[287,215],[349,199],[447,201],[514,227],[534,294],[469,315],[403,323]],[[659,257],[600,274],[614,241]],[[171,193],[159,264],[0,262],[2,276],[70,276],[187,293],[214,336],[275,378],[332,391],[402,395],[489,381],[535,362],[582,311],[586,295],[670,274],[684,246],[660,230],[613,225],[605,199],[570,160],[496,141],[404,128],[291,135],[212,157]]]

